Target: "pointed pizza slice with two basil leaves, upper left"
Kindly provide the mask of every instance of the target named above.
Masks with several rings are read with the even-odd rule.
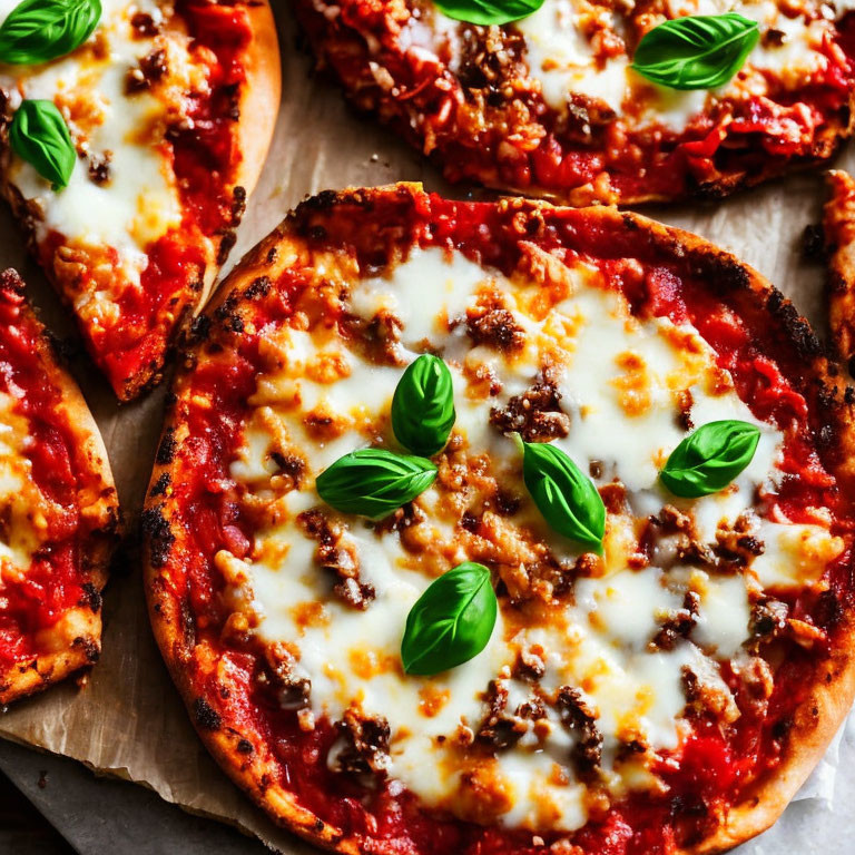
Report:
[[[256,0],[4,0],[0,186],[121,400],[235,243],[279,98]]]

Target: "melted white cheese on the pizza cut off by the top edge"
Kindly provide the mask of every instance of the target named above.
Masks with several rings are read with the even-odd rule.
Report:
[[[792,91],[807,86],[828,65],[823,41],[834,23],[813,6],[796,9],[774,0],[668,0],[661,11],[645,17],[645,31],[669,18],[738,12],[756,20],[761,38],[741,71],[717,90],[678,91],[645,80],[630,65],[626,50],[599,56],[597,39],[635,42],[638,13],[632,2],[591,3],[588,0],[544,0],[532,14],[510,24],[524,38],[523,59],[533,86],[554,110],[564,112],[571,96],[605,105],[617,116],[640,126],[661,125],[679,132],[721,98],[763,96],[775,88]],[[657,7],[658,9],[659,7]],[[845,7],[836,7],[843,14]],[[648,18],[651,20],[648,21]],[[461,65],[461,24],[433,9],[430,24],[413,18],[401,36],[404,49],[449,51],[450,68]],[[768,36],[768,38],[767,38]]]

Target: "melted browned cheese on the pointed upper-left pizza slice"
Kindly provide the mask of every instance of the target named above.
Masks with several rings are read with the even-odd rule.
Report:
[[[0,0],[0,21],[16,6],[16,0]],[[204,69],[189,63],[186,37],[135,37],[131,17],[146,12],[159,21],[161,4],[104,0],[94,35],[68,57],[42,66],[0,66],[0,88],[9,96],[10,108],[16,109],[23,98],[53,100],[81,155],[68,187],[57,193],[17,157],[8,177],[38,212],[37,239],[53,230],[70,246],[98,254],[111,248],[117,257],[109,263],[118,266],[125,281],[138,284],[147,265],[147,247],[181,223],[178,187],[163,142],[167,121],[180,117],[184,92],[204,92],[207,81]],[[128,75],[156,49],[166,52],[165,78],[150,91],[128,95]],[[107,183],[90,178],[82,155],[109,158]],[[112,287],[120,284],[112,278]],[[90,294],[81,297],[89,299]],[[110,311],[106,304],[92,309]]]

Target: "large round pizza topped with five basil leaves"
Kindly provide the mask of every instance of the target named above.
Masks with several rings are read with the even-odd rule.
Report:
[[[849,708],[855,390],[616,208],[327,191],[181,361],[144,513],[203,740],[342,853],[711,853]]]

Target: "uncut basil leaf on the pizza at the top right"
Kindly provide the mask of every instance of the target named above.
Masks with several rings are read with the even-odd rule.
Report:
[[[641,39],[632,68],[671,89],[715,89],[743,67],[759,38],[757,21],[737,12],[676,18]]]

